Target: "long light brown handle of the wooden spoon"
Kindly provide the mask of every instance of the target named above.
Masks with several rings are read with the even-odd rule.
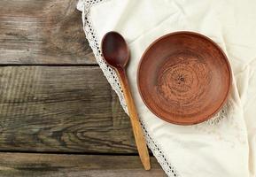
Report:
[[[136,146],[139,152],[139,156],[144,165],[144,169],[150,170],[151,163],[150,163],[149,151],[147,149],[147,145],[144,139],[144,133],[136,112],[136,105],[134,103],[133,97],[130,92],[127,74],[123,68],[118,68],[116,70],[119,73],[121,89],[123,90],[125,100],[128,106],[128,114],[130,117],[133,132],[135,135]]]

